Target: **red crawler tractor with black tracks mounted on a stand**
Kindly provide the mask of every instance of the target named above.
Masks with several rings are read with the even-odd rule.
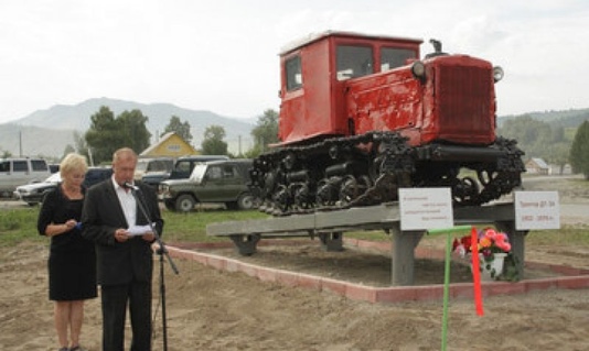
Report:
[[[524,154],[495,135],[501,67],[420,40],[325,32],[280,54],[280,143],[251,168],[274,215],[377,205],[450,187],[481,205],[521,185]]]

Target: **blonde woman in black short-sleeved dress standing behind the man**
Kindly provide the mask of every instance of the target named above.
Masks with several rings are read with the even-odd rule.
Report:
[[[51,238],[49,298],[55,301],[60,351],[82,350],[84,300],[97,296],[94,244],[82,238],[79,224],[85,194],[82,183],[87,169],[83,156],[65,156],[60,164],[62,183],[45,196],[38,220],[39,233]]]

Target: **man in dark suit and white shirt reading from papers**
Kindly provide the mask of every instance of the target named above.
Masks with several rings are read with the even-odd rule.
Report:
[[[137,154],[131,149],[117,150],[113,177],[87,190],[82,215],[83,235],[96,245],[104,351],[124,351],[127,304],[131,351],[151,350],[151,243],[156,234],[149,220],[159,234],[163,220],[153,189],[133,184],[136,165]]]

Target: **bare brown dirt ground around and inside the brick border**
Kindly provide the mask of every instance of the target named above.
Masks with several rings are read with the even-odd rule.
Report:
[[[526,189],[560,189],[564,204],[586,205],[589,194],[565,179],[535,182]],[[549,184],[549,185],[548,185]],[[583,207],[581,207],[583,208]],[[585,207],[586,208],[586,207]],[[586,226],[582,210],[563,221]],[[232,254],[227,250],[226,254]],[[221,251],[219,251],[221,253]],[[0,249],[0,350],[57,350],[53,305],[47,300],[46,246]],[[589,248],[527,248],[526,259],[589,268]],[[296,246],[264,246],[251,257],[259,264],[384,286],[390,279],[385,254],[323,252],[317,241]],[[440,350],[442,303],[371,304],[331,293],[263,283],[199,263],[164,263],[168,350]],[[156,264],[159,267],[159,264]],[[443,281],[441,263],[418,262],[417,279]],[[467,279],[460,268],[453,279]],[[467,271],[468,273],[468,271]],[[160,296],[159,270],[154,297]],[[476,316],[470,299],[451,300],[448,350],[587,350],[588,290],[550,289],[484,299]],[[153,350],[163,350],[162,308],[154,300]],[[86,304],[83,345],[100,350],[99,300]],[[130,334],[128,332],[127,334]]]

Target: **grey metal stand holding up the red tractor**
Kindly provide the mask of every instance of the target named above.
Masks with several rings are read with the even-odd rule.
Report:
[[[516,257],[517,273],[524,276],[524,239],[527,231],[515,230],[513,202],[453,208],[454,226],[495,224],[506,232]],[[243,255],[256,252],[261,238],[319,237],[328,251],[339,251],[343,233],[360,230],[385,230],[392,233],[392,285],[413,285],[415,248],[425,230],[401,231],[398,202],[358,207],[338,211],[293,215],[268,219],[227,221],[206,227],[208,235],[228,237]]]

